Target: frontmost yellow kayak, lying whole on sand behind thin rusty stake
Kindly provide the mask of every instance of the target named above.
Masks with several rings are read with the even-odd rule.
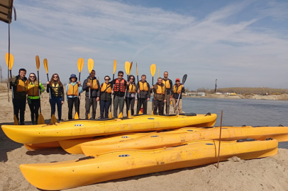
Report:
[[[221,141],[220,161],[237,156],[262,158],[277,154],[278,142]],[[202,140],[155,150],[126,150],[57,163],[22,164],[26,180],[43,190],[64,190],[134,175],[216,163],[218,141]]]

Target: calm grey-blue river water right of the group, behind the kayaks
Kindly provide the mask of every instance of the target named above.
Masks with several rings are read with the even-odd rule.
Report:
[[[223,110],[223,126],[288,126],[288,101],[183,98],[184,112],[216,113],[216,126],[220,126]]]

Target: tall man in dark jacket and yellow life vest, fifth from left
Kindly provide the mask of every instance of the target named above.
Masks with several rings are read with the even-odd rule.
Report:
[[[89,99],[89,89],[90,89],[90,99]],[[100,100],[100,84],[95,77],[95,70],[92,70],[90,76],[83,82],[83,91],[85,93],[85,119],[88,119],[88,114],[90,113],[90,108],[92,107],[92,119],[96,117],[97,101]]]

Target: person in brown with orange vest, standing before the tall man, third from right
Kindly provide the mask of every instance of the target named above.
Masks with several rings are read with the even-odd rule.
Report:
[[[165,84],[162,83],[162,78],[157,79],[157,83],[152,86],[152,89],[154,92],[153,114],[156,115],[158,109],[159,115],[164,115],[164,104],[166,103],[167,91]]]

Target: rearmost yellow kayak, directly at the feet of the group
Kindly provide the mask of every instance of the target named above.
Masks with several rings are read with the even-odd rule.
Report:
[[[216,114],[211,115],[140,115],[133,119],[120,120],[72,120],[55,125],[2,125],[7,137],[22,144],[39,144],[81,137],[119,134],[123,132],[157,131],[199,125],[215,124]]]

